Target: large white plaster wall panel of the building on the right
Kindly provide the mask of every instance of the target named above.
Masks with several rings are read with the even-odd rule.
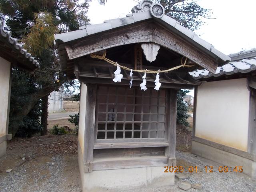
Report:
[[[249,90],[246,78],[198,87],[196,137],[247,151]]]

